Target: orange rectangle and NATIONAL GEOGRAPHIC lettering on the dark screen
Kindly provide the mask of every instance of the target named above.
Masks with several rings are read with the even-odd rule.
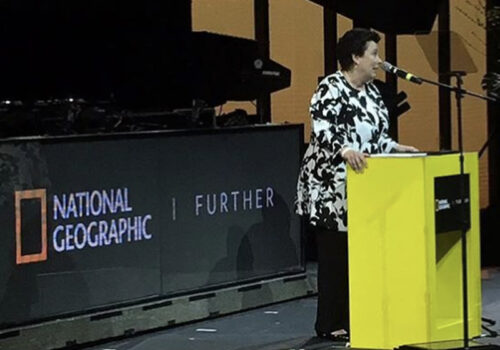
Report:
[[[15,192],[16,263],[47,260],[51,252],[64,253],[153,238],[153,217],[134,215],[127,187],[51,195],[46,189]],[[51,227],[48,234],[47,226]]]

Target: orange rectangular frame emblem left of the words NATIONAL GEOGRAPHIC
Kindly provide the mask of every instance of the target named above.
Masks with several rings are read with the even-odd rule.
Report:
[[[40,252],[23,254],[23,235],[33,235],[33,232],[23,232],[22,202],[35,201],[40,203]],[[45,189],[16,191],[16,264],[28,264],[47,260],[47,191]]]

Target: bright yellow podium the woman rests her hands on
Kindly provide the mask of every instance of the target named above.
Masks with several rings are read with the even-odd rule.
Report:
[[[351,347],[392,349],[463,337],[461,232],[436,232],[438,213],[453,203],[436,198],[435,184],[456,180],[459,173],[458,154],[374,157],[362,174],[348,169]],[[481,333],[475,153],[465,154],[465,173],[469,335],[474,337]]]

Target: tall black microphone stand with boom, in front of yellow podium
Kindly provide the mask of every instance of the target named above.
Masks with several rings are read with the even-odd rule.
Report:
[[[462,88],[463,77],[466,75],[464,71],[452,71],[446,73],[456,79],[456,86],[435,82],[429,79],[420,78],[422,82],[444,87],[455,93],[455,100],[457,105],[457,119],[458,119],[458,151],[460,162],[460,227],[461,227],[461,246],[462,246],[462,297],[463,297],[463,347],[454,347],[454,349],[470,349],[469,343],[469,300],[468,300],[468,277],[467,277],[467,230],[469,229],[469,218],[466,218],[465,211],[465,171],[464,171],[464,149],[463,149],[463,133],[462,133],[462,99],[465,95],[474,96],[485,101],[496,101],[489,96],[483,96],[474,92],[467,91]],[[431,346],[432,347],[432,346]],[[473,345],[474,349],[500,349],[500,346],[493,344],[477,344]],[[404,346],[404,348],[413,348],[411,346]],[[419,347],[420,349],[420,347]]]

